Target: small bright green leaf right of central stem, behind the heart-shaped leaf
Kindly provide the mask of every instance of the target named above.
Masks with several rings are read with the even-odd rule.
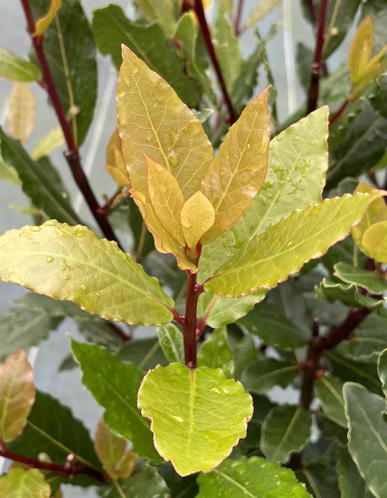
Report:
[[[233,353],[227,337],[227,328],[215,329],[198,351],[198,367],[222,369],[226,377],[234,373]]]

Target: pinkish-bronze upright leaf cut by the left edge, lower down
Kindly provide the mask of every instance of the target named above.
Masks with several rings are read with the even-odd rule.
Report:
[[[31,365],[18,350],[0,365],[0,440],[7,443],[21,434],[34,401]]]

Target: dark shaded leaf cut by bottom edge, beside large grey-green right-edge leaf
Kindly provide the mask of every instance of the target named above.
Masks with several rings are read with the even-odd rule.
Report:
[[[366,485],[358,472],[347,448],[339,448],[337,471],[341,498],[365,498]]]

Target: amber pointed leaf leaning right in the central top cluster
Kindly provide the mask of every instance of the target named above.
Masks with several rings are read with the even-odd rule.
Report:
[[[215,209],[214,225],[204,234],[203,244],[234,225],[263,183],[270,139],[267,91],[258,95],[230,128],[203,179],[201,191]]]

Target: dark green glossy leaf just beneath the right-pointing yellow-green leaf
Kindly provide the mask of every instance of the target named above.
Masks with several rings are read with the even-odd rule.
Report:
[[[308,338],[273,305],[263,302],[238,321],[239,325],[263,341],[266,346],[292,351],[302,348]]]

